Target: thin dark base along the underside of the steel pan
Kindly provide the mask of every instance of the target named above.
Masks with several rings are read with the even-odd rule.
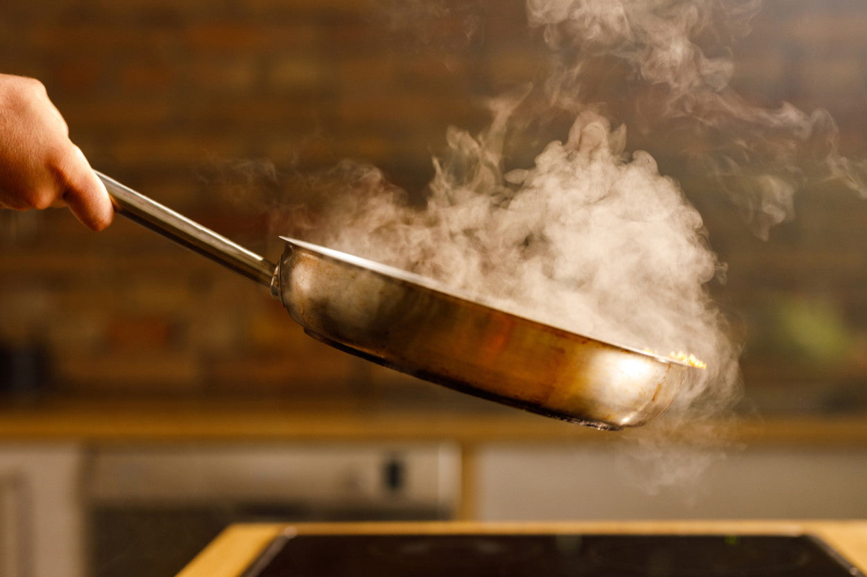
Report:
[[[340,342],[337,342],[336,340],[331,340],[328,337],[311,331],[308,328],[304,328],[304,332],[309,334],[314,339],[325,343],[329,347],[335,347],[336,349],[339,349],[344,353],[354,354],[356,357],[361,357],[364,360],[369,360],[370,362],[374,362],[377,365],[388,366],[388,368],[394,369],[395,371],[409,374],[414,377],[418,377],[419,379],[424,379],[432,383],[436,383],[437,385],[446,386],[450,389],[453,389],[454,391],[464,392],[466,394],[473,395],[473,397],[479,397],[479,399],[490,400],[495,403],[499,403],[500,405],[508,405],[516,409],[532,412],[537,415],[542,415],[544,417],[556,418],[557,420],[567,421],[569,423],[575,423],[577,425],[583,425],[585,427],[590,427],[599,431],[620,431],[623,429],[622,426],[610,425],[609,423],[603,423],[601,421],[591,421],[586,418],[578,418],[564,412],[552,411],[547,407],[536,405],[535,403],[529,403],[520,399],[512,399],[511,397],[498,395],[494,392],[482,391],[475,388],[474,386],[467,385],[464,382],[454,379],[448,379],[438,374],[427,373],[425,371],[408,371],[403,367],[394,365],[394,363],[383,360],[380,357],[375,356],[374,354],[365,353],[364,351],[349,347]]]

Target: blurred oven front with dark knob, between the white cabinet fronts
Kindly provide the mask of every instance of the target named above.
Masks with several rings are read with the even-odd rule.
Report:
[[[235,522],[449,519],[459,457],[443,442],[93,444],[89,574],[175,574]]]

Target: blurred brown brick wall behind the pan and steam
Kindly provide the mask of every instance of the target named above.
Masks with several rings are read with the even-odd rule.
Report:
[[[829,108],[863,156],[865,29],[856,0],[769,3],[735,83],[767,106]],[[0,71],[47,85],[95,167],[276,258],[267,209],[287,174],[349,157],[419,189],[448,125],[478,130],[486,97],[538,78],[538,36],[521,2],[33,0],[0,7]],[[761,243],[727,201],[683,182],[730,264],[720,299],[739,322],[756,333],[780,295],[827,298],[863,336],[867,203],[808,192],[802,217]],[[264,290],[123,219],[99,235],[66,211],[0,219],[0,340],[49,347],[57,386],[394,391],[391,373],[310,340]],[[748,372],[804,377],[750,360],[762,338]],[[863,378],[859,362],[834,378]]]

